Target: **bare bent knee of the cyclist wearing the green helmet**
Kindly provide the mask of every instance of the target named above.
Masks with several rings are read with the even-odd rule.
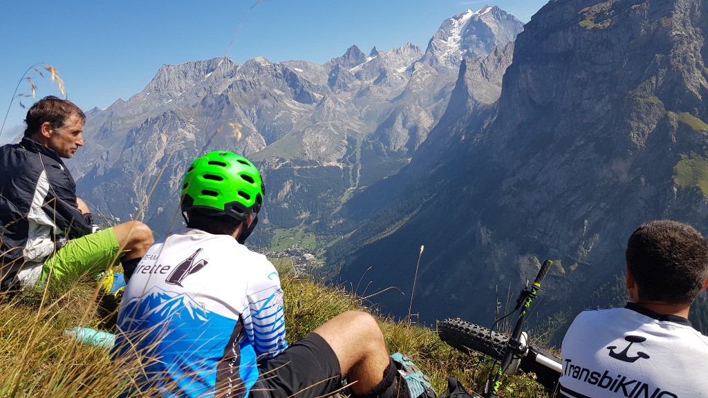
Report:
[[[382,381],[389,353],[376,319],[366,312],[349,311],[314,329],[337,356],[354,394],[362,395]]]

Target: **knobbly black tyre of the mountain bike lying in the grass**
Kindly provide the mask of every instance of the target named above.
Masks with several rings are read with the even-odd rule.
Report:
[[[509,341],[503,334],[462,319],[448,318],[438,322],[438,335],[442,341],[458,351],[467,354],[476,351],[496,360],[501,360],[504,347]]]

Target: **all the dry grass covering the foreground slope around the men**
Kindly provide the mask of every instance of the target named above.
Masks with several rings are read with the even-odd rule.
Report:
[[[281,283],[290,342],[336,314],[363,309],[379,319],[389,351],[411,357],[430,375],[438,394],[445,393],[448,376],[459,377],[468,390],[481,390],[493,366],[486,358],[450,348],[432,329],[382,317],[365,307],[360,297],[341,289],[326,288],[282,270]],[[82,281],[55,290],[0,297],[0,373],[4,375],[0,397],[110,398],[135,385],[142,371],[137,358],[111,361],[105,349],[84,346],[64,336],[73,326],[112,330],[117,303],[95,286],[92,281]],[[525,376],[507,378],[503,393],[505,397],[547,397],[542,387]],[[156,391],[142,394],[159,395]]]

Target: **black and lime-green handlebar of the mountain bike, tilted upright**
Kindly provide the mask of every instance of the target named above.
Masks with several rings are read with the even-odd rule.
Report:
[[[501,364],[499,365],[497,372],[489,377],[486,387],[486,398],[498,397],[499,387],[501,387],[501,376],[503,375],[504,370],[506,370],[506,368],[508,368],[511,364],[514,356],[523,354],[523,351],[526,348],[525,344],[520,343],[524,318],[526,317],[527,310],[531,307],[531,302],[536,298],[536,293],[541,289],[541,281],[546,277],[546,274],[552,264],[553,262],[550,260],[544,261],[541,269],[538,271],[538,275],[536,275],[536,279],[531,285],[531,289],[528,287],[527,280],[526,287],[521,290],[518,299],[516,299],[516,307],[514,308],[514,312],[516,312],[519,308],[521,308],[521,312],[519,312],[519,317],[516,320],[514,331],[509,338],[508,346],[504,350],[504,356],[501,360]]]

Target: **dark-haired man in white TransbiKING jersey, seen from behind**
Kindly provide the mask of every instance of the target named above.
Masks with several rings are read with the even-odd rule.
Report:
[[[688,313],[708,286],[708,244],[690,225],[642,224],[627,242],[624,308],[582,312],[563,340],[564,397],[705,397],[708,337]]]

